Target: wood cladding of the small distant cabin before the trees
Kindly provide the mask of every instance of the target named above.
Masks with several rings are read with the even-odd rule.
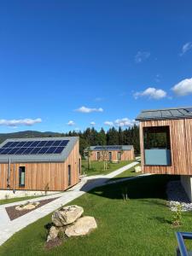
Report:
[[[97,160],[97,152],[100,152],[101,155],[101,160],[102,160],[102,152],[101,151],[92,151],[90,155],[90,160]],[[108,160],[108,152],[111,152],[112,154],[112,160],[118,160],[118,152],[121,152],[119,150],[112,150],[112,151],[107,151],[107,157],[106,159]],[[121,160],[134,160],[135,159],[135,153],[134,149],[132,148],[131,150],[125,150],[121,154]]]

